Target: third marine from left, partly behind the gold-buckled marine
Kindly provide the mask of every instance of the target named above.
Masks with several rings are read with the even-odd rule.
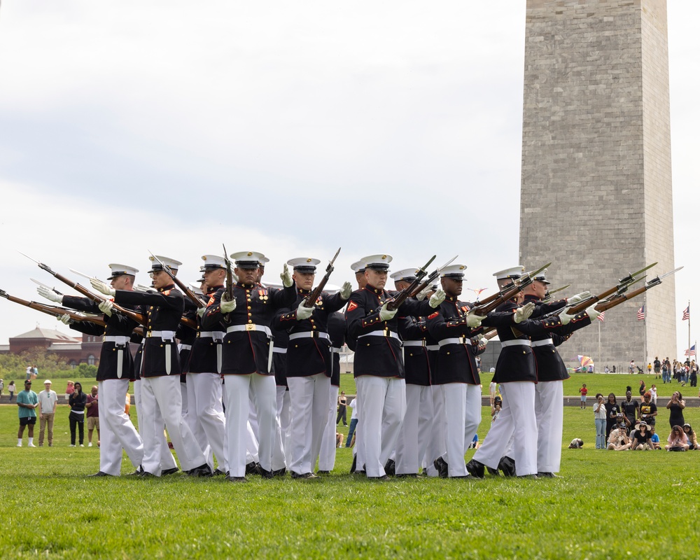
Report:
[[[226,262],[218,255],[202,256],[204,301],[211,300],[226,281]],[[207,465],[214,471],[214,456],[218,471],[228,471],[224,452],[226,421],[222,405],[221,366],[223,364],[223,337],[225,326],[202,328],[206,307],[195,310],[197,330],[190,351],[187,372],[188,424],[200,447],[204,448]]]

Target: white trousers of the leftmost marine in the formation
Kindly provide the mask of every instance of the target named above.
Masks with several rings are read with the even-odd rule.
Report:
[[[105,379],[97,383],[99,391],[99,470],[119,476],[122,449],[135,468],[144,460],[144,442],[124,412],[129,379]]]

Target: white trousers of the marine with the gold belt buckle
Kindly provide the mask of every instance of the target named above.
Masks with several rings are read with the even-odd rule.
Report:
[[[246,475],[246,447],[252,444],[248,430],[250,423],[250,397],[255,400],[258,419],[258,459],[260,467],[272,470],[272,447],[276,417],[274,377],[250,373],[226,376],[226,440],[228,442],[228,467],[232,477]]]

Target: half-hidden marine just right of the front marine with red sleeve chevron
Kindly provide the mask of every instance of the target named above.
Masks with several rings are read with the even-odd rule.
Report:
[[[418,270],[406,268],[391,274],[396,290],[408,288]],[[433,426],[433,390],[431,369],[435,367],[437,342],[430,336],[425,317],[398,316],[398,334],[403,344],[406,372],[406,410],[396,442],[396,452],[384,470],[398,477],[415,477],[425,461],[430,430]]]

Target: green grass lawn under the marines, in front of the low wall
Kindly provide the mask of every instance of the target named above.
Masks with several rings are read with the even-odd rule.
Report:
[[[487,408],[483,416],[482,440]],[[686,417],[700,427],[700,409]],[[241,485],[179,475],[86,478],[98,470],[99,449],[67,447],[66,406],[55,447],[30,449],[26,434],[25,447],[15,447],[17,408],[3,405],[0,557],[697,556],[700,453],[596,451],[591,410],[567,407],[564,423],[563,447],[573,437],[585,447],[563,449],[559,479],[367,482],[347,474],[351,450],[343,448],[322,482],[251,477]]]

